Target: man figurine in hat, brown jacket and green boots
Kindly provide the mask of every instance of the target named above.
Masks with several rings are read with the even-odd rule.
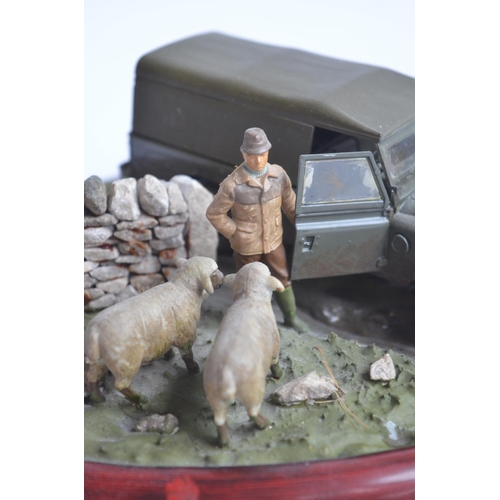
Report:
[[[270,149],[262,129],[245,131],[240,148],[245,161],[222,181],[207,218],[229,240],[236,271],[260,261],[283,283],[285,290],[275,292],[275,297],[285,325],[303,333],[308,327],[297,317],[281,223],[282,210],[295,222],[295,193],[285,170],[268,163]]]

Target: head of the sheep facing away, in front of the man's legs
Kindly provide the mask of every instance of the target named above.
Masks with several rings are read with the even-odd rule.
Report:
[[[269,300],[272,292],[284,290],[281,281],[271,276],[269,268],[261,262],[246,264],[236,274],[228,274],[224,285],[233,289],[233,300],[240,297]]]

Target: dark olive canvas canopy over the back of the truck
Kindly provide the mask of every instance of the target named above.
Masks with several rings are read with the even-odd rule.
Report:
[[[295,184],[301,154],[375,151],[413,122],[414,89],[413,78],[383,68],[195,36],[139,60],[131,163],[140,175],[167,168],[220,181],[241,161],[244,130],[260,127],[273,144],[270,161]]]

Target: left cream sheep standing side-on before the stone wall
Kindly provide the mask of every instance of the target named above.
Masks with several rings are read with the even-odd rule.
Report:
[[[162,285],[99,312],[85,329],[85,377],[92,402],[105,398],[99,382],[107,370],[115,387],[131,403],[141,407],[147,397],[130,383],[141,365],[176,347],[192,373],[200,371],[192,345],[200,319],[201,304],[223,274],[208,257],[179,258],[175,275]]]

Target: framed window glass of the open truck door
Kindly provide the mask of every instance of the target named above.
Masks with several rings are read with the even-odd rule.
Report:
[[[303,205],[382,199],[366,158],[308,161],[303,186]]]

